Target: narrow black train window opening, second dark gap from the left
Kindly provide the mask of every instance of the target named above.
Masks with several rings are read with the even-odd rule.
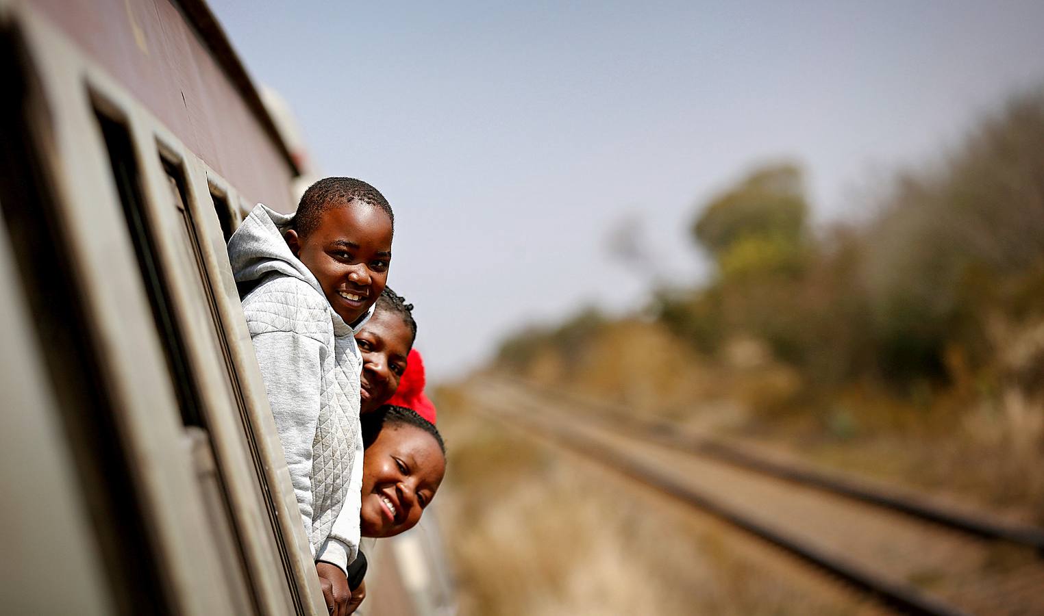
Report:
[[[188,365],[188,353],[184,336],[171,312],[171,298],[163,284],[163,264],[157,258],[157,249],[148,231],[147,208],[142,194],[138,164],[135,157],[130,133],[119,122],[101,113],[96,113],[98,124],[109,150],[109,161],[116,180],[116,190],[127,229],[134,243],[142,279],[152,307],[156,327],[163,339],[164,356],[170,370],[171,381],[177,396],[177,406],[185,425],[201,426],[203,406],[192,372]]]

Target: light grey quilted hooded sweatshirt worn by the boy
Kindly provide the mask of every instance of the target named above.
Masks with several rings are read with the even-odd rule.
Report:
[[[261,366],[316,561],[347,568],[359,548],[362,434],[356,331],[283,239],[291,218],[258,203],[229,240],[243,314]]]

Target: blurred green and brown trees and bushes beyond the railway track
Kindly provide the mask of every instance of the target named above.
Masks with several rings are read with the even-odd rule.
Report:
[[[521,332],[497,366],[672,418],[729,399],[749,427],[996,455],[968,474],[1044,506],[1025,472],[1044,462],[1044,92],[887,183],[865,222],[813,229],[801,168],[755,169],[692,221],[708,282],[655,293],[652,322],[588,309]]]

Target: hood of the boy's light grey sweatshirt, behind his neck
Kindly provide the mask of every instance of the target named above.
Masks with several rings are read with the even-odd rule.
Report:
[[[272,274],[291,276],[307,282],[324,299],[323,287],[312,272],[290,252],[283,233],[290,228],[292,216],[280,214],[263,203],[258,203],[229,240],[229,261],[236,278],[240,297],[245,297],[262,279]],[[354,325],[345,323],[340,315],[330,309],[334,335],[353,336],[362,328],[374,314],[370,306],[366,314]]]

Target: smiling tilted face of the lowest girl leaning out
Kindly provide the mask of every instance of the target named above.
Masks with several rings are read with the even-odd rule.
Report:
[[[446,474],[434,437],[404,423],[385,424],[362,462],[363,537],[393,537],[413,527]]]

